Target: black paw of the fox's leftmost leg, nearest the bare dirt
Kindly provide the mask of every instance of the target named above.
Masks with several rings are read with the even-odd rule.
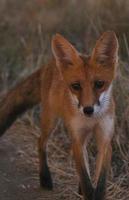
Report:
[[[52,177],[48,167],[40,173],[40,186],[48,190],[53,189]]]

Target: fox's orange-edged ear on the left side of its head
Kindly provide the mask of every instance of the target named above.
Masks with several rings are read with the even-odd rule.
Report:
[[[52,39],[52,52],[57,64],[73,64],[79,57],[77,50],[60,34],[56,34]]]

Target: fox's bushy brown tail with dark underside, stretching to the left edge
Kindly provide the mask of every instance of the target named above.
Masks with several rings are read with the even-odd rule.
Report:
[[[41,70],[37,70],[16,85],[0,101],[0,136],[19,115],[40,102]]]

